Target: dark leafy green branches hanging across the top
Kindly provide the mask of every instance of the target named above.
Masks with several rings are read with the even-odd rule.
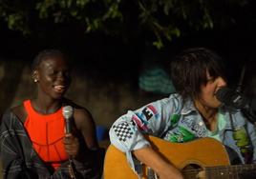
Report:
[[[79,24],[86,33],[104,31],[109,35],[137,30],[158,49],[194,30],[225,28],[237,22],[237,10],[249,0],[31,0],[0,1],[0,18],[10,30],[33,33],[41,22]],[[131,27],[133,26],[133,27]],[[132,32],[130,32],[132,33]],[[135,38],[138,38],[135,36]],[[153,37],[153,38],[152,38]]]

